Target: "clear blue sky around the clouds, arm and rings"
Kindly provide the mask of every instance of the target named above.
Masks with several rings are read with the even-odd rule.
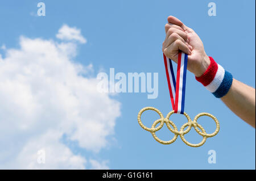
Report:
[[[185,112],[193,118],[209,112],[220,121],[220,132],[208,138],[200,148],[190,148],[180,137],[171,145],[161,145],[149,132],[139,127],[137,114],[146,106],[163,112],[171,111],[170,97],[162,58],[164,24],[173,15],[197,32],[208,56],[233,74],[233,77],[255,87],[255,1],[42,1],[46,16],[38,17],[40,1],[1,2],[0,45],[19,48],[19,37],[56,40],[63,24],[77,27],[87,43],[78,47],[73,61],[84,66],[93,64],[99,71],[110,68],[123,73],[158,73],[159,95],[147,99],[145,93],[121,93],[111,96],[121,103],[121,115],[116,119],[114,135],[109,145],[100,151],[81,148],[76,141],[63,142],[74,154],[86,158],[108,160],[110,169],[255,169],[255,129],[234,115],[214,98],[192,73],[187,74]],[[208,16],[208,3],[215,2],[217,16]],[[5,51],[0,50],[2,57]],[[1,78],[0,78],[1,79]],[[112,110],[113,113],[116,110]],[[157,119],[145,113],[148,127]],[[185,118],[174,115],[178,128]],[[213,132],[214,122],[201,119],[207,132]],[[169,140],[173,134],[163,128],[159,137]],[[199,142],[195,131],[185,138]],[[21,139],[21,138],[20,138]],[[19,141],[19,140],[17,140]],[[217,163],[208,163],[208,150],[216,150]],[[4,167],[4,166],[3,166]]]

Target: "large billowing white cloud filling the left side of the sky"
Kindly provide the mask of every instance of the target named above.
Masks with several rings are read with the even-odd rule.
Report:
[[[78,32],[73,39],[81,42]],[[93,71],[92,64],[71,61],[76,50],[74,42],[20,37],[20,49],[0,54],[0,169],[108,168],[60,141],[65,134],[97,154],[109,145],[120,115],[120,103],[97,92],[98,80],[81,75]],[[45,164],[37,162],[42,148]]]

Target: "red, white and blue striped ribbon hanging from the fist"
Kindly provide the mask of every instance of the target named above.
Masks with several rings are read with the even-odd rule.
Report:
[[[185,105],[185,85],[186,85],[186,75],[187,75],[187,63],[188,55],[179,52],[177,61],[177,79],[175,81],[174,68],[172,66],[172,60],[170,58],[164,57],[164,65],[166,67],[167,82],[171,97],[172,110],[175,113],[184,113]],[[175,95],[175,98],[174,98]]]

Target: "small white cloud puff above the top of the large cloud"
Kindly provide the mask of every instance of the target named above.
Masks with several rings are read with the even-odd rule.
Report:
[[[67,24],[64,24],[60,28],[56,37],[60,40],[76,40],[80,43],[86,43],[86,39],[81,35],[81,30],[77,29],[76,27],[71,28],[67,26]]]

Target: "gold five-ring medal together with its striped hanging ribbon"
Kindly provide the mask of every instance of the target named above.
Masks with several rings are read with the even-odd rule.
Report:
[[[220,131],[220,123],[218,123],[217,118],[211,115],[210,113],[206,113],[206,112],[199,113],[198,115],[196,115],[196,117],[192,121],[191,118],[188,116],[188,114],[184,112],[188,55],[183,52],[179,52],[178,54],[176,81],[174,76],[174,68],[172,67],[172,60],[171,59],[167,60],[164,54],[163,54],[163,57],[164,57],[164,65],[166,67],[166,75],[167,75],[167,82],[168,82],[168,87],[170,91],[172,111],[170,111],[168,115],[164,117],[163,113],[160,112],[158,109],[154,107],[144,107],[138,113],[138,123],[144,130],[150,132],[154,137],[154,139],[158,141],[160,144],[164,144],[164,145],[172,144],[172,142],[174,142],[177,139],[177,136],[180,135],[181,140],[188,146],[192,146],[192,147],[202,146],[208,137],[213,137],[218,133],[218,131]],[[175,98],[174,98],[174,95],[175,95]],[[155,120],[151,128],[146,127],[141,121],[142,113],[147,110],[155,111],[160,116],[160,119]],[[170,116],[173,113],[181,113],[185,117],[187,117],[188,122],[182,125],[182,127],[180,128],[180,131],[178,131],[174,122],[170,120]],[[197,119],[199,119],[199,117],[201,116],[209,116],[214,120],[214,122],[216,123],[216,130],[213,133],[208,134],[207,132],[205,132],[205,129],[200,124],[197,123]],[[158,125],[159,123],[160,125]],[[174,137],[169,141],[160,140],[155,133],[160,129],[162,129],[164,124],[166,124],[167,128],[172,133],[175,134]],[[156,125],[158,125],[158,127],[156,127]],[[186,127],[188,128],[185,129]],[[184,135],[187,134],[192,127],[195,128],[195,131],[197,133],[203,136],[203,140],[199,144],[191,144],[184,138]]]

